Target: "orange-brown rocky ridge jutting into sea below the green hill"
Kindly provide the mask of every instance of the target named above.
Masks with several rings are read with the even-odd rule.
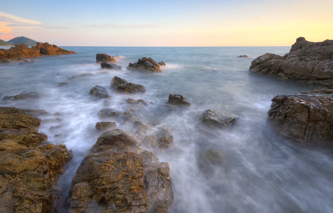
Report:
[[[21,58],[33,58],[43,55],[61,55],[61,54],[73,54],[74,51],[68,51],[59,48],[57,45],[51,45],[47,42],[39,43],[36,46],[29,48],[26,44],[15,44],[15,47],[10,49],[0,49],[0,62],[10,62],[22,60]]]

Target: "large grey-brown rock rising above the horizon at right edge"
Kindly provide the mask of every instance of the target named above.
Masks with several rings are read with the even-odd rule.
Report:
[[[250,71],[282,80],[333,87],[333,40],[309,42],[299,37],[284,56],[265,53],[254,59]]]

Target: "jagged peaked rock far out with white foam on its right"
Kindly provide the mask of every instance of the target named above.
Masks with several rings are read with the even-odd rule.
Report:
[[[130,63],[126,69],[128,70],[137,70],[137,71],[150,71],[150,72],[162,72],[160,69],[160,64],[154,61],[153,58],[139,58],[138,62]]]

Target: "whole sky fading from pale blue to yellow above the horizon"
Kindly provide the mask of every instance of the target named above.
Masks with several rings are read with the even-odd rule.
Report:
[[[0,39],[17,36],[58,46],[290,46],[333,39],[333,1],[1,1]]]

